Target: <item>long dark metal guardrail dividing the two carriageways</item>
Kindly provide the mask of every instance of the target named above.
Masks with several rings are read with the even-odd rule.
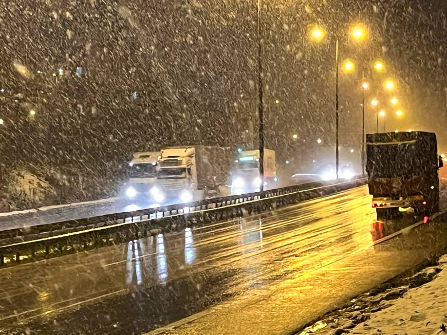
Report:
[[[51,253],[85,250],[187,226],[243,217],[245,214],[264,212],[355,188],[365,183],[366,179],[357,179],[329,185],[319,183],[293,185],[262,193],[212,198],[189,204],[173,204],[6,230],[0,232],[0,266],[5,263],[17,264],[23,259],[42,259]]]

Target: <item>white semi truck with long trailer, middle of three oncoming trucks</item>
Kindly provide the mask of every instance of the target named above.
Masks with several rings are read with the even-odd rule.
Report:
[[[229,195],[227,187],[234,157],[228,147],[194,145],[161,151],[153,197],[164,204],[188,203]]]

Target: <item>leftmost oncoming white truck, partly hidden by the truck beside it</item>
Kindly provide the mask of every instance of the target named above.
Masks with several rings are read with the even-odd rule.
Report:
[[[152,198],[151,189],[157,181],[159,151],[138,152],[127,164],[127,182],[122,195],[127,200],[142,201]]]

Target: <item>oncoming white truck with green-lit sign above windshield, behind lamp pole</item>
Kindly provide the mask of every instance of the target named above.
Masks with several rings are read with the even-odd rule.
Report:
[[[275,152],[264,149],[264,188],[274,188],[277,181]],[[259,192],[261,183],[259,150],[240,152],[232,173],[231,194]]]

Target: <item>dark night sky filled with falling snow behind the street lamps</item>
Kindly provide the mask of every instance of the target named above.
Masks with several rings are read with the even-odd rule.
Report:
[[[256,138],[255,1],[0,4],[6,8],[0,12],[3,173],[31,164],[113,179],[118,165],[137,150],[195,143],[249,146]],[[447,151],[442,1],[263,4],[266,138],[278,157],[304,161],[318,146],[316,139],[333,144],[334,40],[309,41],[308,26],[314,23],[341,36],[342,58],[362,64],[384,59],[386,76],[398,81],[404,110],[402,119],[390,110],[388,130],[436,132]],[[354,22],[370,29],[364,46],[344,38]],[[370,66],[362,68],[377,87]],[[351,146],[361,140],[359,86],[360,71],[341,76],[341,138]],[[376,121],[368,108],[366,127],[372,132]]]

